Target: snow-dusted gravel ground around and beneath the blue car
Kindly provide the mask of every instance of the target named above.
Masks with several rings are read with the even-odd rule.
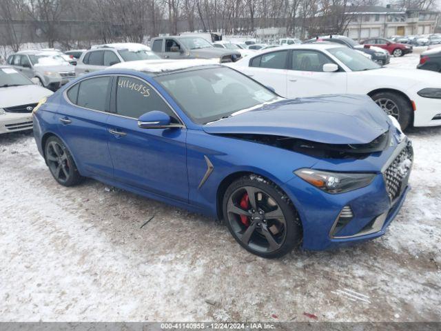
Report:
[[[413,190],[385,236],[266,260],[213,219],[64,188],[32,134],[3,134],[0,321],[441,321],[441,128],[409,136]]]

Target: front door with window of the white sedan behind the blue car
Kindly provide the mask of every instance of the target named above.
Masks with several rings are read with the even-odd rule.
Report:
[[[347,73],[323,72],[325,63],[335,63],[318,50],[292,50],[287,73],[287,97],[311,97],[347,91]]]

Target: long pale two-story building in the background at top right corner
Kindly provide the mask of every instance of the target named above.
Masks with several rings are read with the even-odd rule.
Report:
[[[349,23],[345,35],[352,39],[407,36],[435,32],[439,12],[401,10],[392,6],[348,6],[345,14]]]

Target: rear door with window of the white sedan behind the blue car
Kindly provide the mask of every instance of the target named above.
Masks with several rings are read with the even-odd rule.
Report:
[[[249,67],[241,71],[286,97],[288,54],[289,50],[277,50],[253,57],[249,61]]]

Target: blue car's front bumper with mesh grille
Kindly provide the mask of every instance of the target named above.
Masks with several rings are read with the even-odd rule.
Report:
[[[378,161],[384,159],[384,155],[365,160],[368,163],[377,161],[378,172],[364,188],[329,194],[300,177],[285,184],[302,221],[302,248],[327,250],[384,234],[410,190],[408,181],[413,161],[410,141],[405,138],[396,148],[390,148],[388,154],[382,164]]]

